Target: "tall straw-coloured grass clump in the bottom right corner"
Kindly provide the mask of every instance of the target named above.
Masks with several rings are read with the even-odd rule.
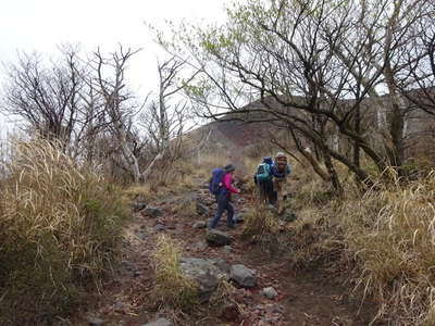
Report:
[[[368,192],[344,206],[357,284],[380,303],[378,316],[400,325],[435,325],[435,172],[401,188]],[[359,210],[355,208],[359,206]]]

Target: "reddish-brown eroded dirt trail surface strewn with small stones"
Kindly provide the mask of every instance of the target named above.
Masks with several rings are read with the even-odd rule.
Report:
[[[183,206],[198,203],[198,213],[183,214]],[[150,210],[149,208],[156,208]],[[250,209],[248,199],[235,199],[236,212]],[[200,214],[199,214],[200,213]],[[174,193],[148,204],[148,211],[135,213],[125,230],[121,263],[114,266],[114,278],[102,286],[102,296],[89,300],[70,325],[369,325],[373,318],[370,304],[360,306],[351,300],[351,289],[341,286],[343,278],[320,272],[291,269],[285,252],[268,254],[259,244],[240,238],[243,224],[227,230],[224,221],[219,229],[233,237],[231,246],[209,247],[206,228],[197,222],[214,213],[213,199],[204,187]],[[195,225],[195,227],[194,227]],[[288,227],[288,225],[283,225]],[[154,271],[151,255],[159,234],[177,239],[187,259],[216,259],[231,268],[243,264],[254,271],[256,286],[234,287],[231,300],[221,304],[203,303],[183,314],[164,310],[152,294]],[[236,285],[236,284],[235,284]],[[263,289],[273,288],[268,298]],[[369,305],[369,306],[368,306]],[[165,324],[164,319],[169,324]]]

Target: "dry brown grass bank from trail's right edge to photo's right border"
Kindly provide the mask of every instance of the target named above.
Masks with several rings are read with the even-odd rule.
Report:
[[[301,175],[288,256],[297,266],[352,269],[356,288],[378,303],[377,319],[435,325],[435,172],[411,184],[386,173],[390,184],[383,178],[365,195],[349,184],[343,198]]]

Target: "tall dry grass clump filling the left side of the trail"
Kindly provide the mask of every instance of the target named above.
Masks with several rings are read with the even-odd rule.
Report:
[[[21,141],[13,152],[0,189],[0,324],[32,324],[98,284],[127,210],[115,187],[55,145]]]

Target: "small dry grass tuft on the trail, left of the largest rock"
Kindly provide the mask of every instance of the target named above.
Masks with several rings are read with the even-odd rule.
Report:
[[[197,301],[197,288],[194,281],[184,275],[179,259],[179,246],[170,237],[160,235],[153,255],[158,302],[188,310]]]

